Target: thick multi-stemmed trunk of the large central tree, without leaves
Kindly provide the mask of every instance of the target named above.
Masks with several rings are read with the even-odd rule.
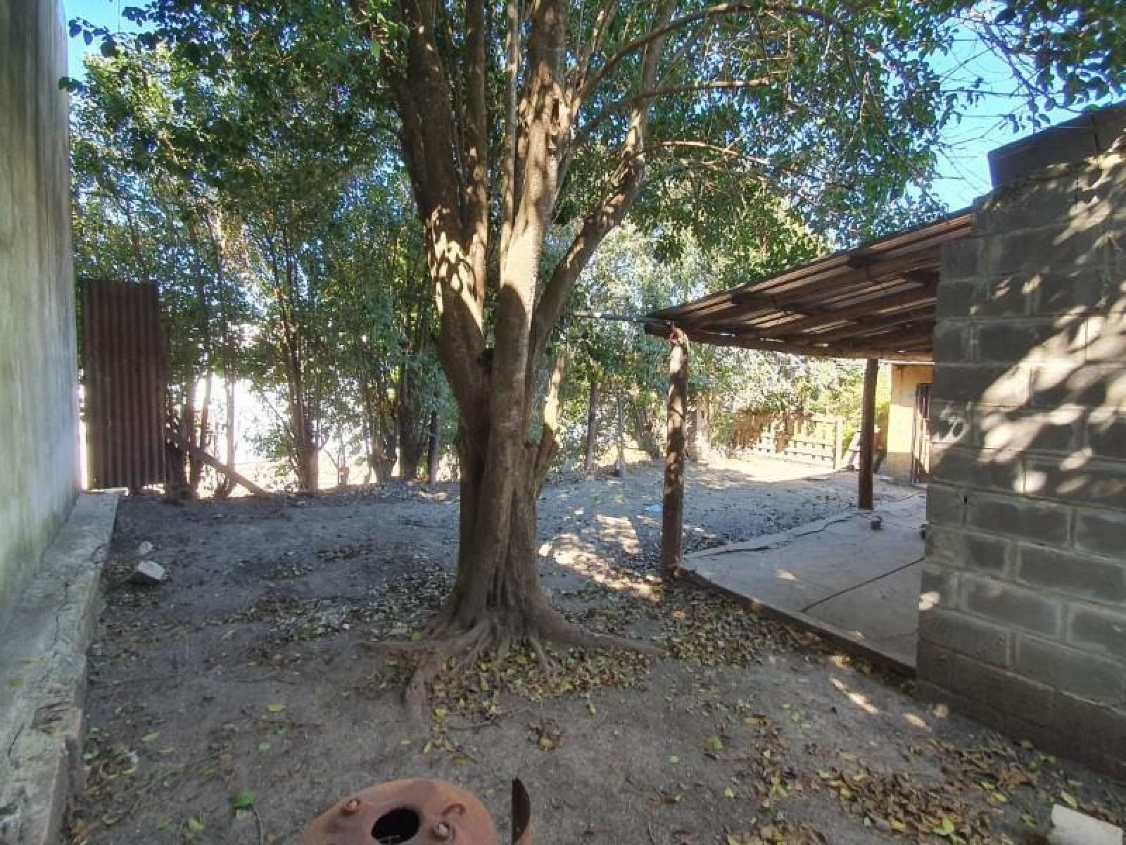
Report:
[[[397,7],[403,26],[393,34],[368,20],[373,37],[396,41],[381,62],[422,223],[439,361],[458,412],[462,475],[457,580],[429,629],[429,658],[408,688],[409,701],[418,703],[449,655],[502,653],[517,639],[607,642],[566,623],[539,588],[536,499],[555,448],[551,407],[560,361],[548,380],[539,441],[528,442],[527,434],[552,331],[575,281],[641,190],[647,106],[638,101],[629,109],[620,167],[542,281],[561,163],[586,96],[581,74],[566,62],[571,5],[510,0],[504,19],[493,21],[508,29],[503,114],[489,110],[491,16],[484,0],[466,0],[464,39],[455,51],[447,48],[439,3],[399,0]],[[673,7],[662,2],[654,23],[668,21]],[[364,5],[356,0],[352,8],[364,18]],[[654,83],[661,43],[658,37],[638,47],[643,90]],[[501,161],[494,167],[497,125]],[[497,244],[490,244],[493,212],[500,216]]]

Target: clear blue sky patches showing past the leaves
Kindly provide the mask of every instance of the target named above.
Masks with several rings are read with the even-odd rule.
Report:
[[[120,15],[120,10],[136,0],[64,0],[66,17],[81,17],[111,29],[132,29],[132,25]],[[92,47],[97,48],[97,44]],[[70,39],[70,72],[81,75],[82,56],[87,47],[81,38]],[[950,65],[965,65],[959,73],[964,79],[982,77],[991,89],[1004,91],[1012,88],[1011,74],[997,59],[982,59],[971,53],[972,45],[964,45],[950,56]],[[948,148],[941,155],[939,178],[935,185],[938,196],[949,211],[969,205],[976,197],[989,193],[989,161],[986,153],[1002,144],[1027,135],[1030,130],[1013,133],[1004,123],[1011,100],[1004,96],[988,97],[967,109],[962,119],[947,126],[944,135]],[[1053,123],[1073,116],[1071,112],[1057,109],[1048,113]]]

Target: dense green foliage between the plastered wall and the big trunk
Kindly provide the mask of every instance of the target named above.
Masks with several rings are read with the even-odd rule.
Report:
[[[248,379],[271,409],[254,439],[298,486],[316,483],[330,444],[333,460],[359,453],[385,475],[402,445],[418,463],[443,407],[409,188],[373,143],[374,89],[354,77],[345,94],[291,65],[284,38],[242,44],[245,25],[225,33],[214,72],[131,44],[88,61],[74,106],[78,275],[159,283],[189,428],[200,379]]]

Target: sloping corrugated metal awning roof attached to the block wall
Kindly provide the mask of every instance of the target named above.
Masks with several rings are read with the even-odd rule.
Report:
[[[931,361],[944,243],[967,208],[756,282],[647,315],[645,330],[690,340],[834,358]]]

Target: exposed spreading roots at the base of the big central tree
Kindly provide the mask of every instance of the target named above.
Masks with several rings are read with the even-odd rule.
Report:
[[[403,692],[406,718],[414,729],[428,723],[428,687],[447,670],[452,659],[462,666],[472,666],[491,655],[493,669],[499,674],[513,644],[524,642],[535,652],[544,674],[553,675],[558,667],[544,648],[547,642],[582,649],[626,649],[650,657],[661,653],[653,643],[587,631],[552,607],[512,615],[493,613],[470,628],[459,626],[453,621],[453,614],[440,614],[425,631],[427,633],[418,642],[378,644],[382,650],[420,656]]]

